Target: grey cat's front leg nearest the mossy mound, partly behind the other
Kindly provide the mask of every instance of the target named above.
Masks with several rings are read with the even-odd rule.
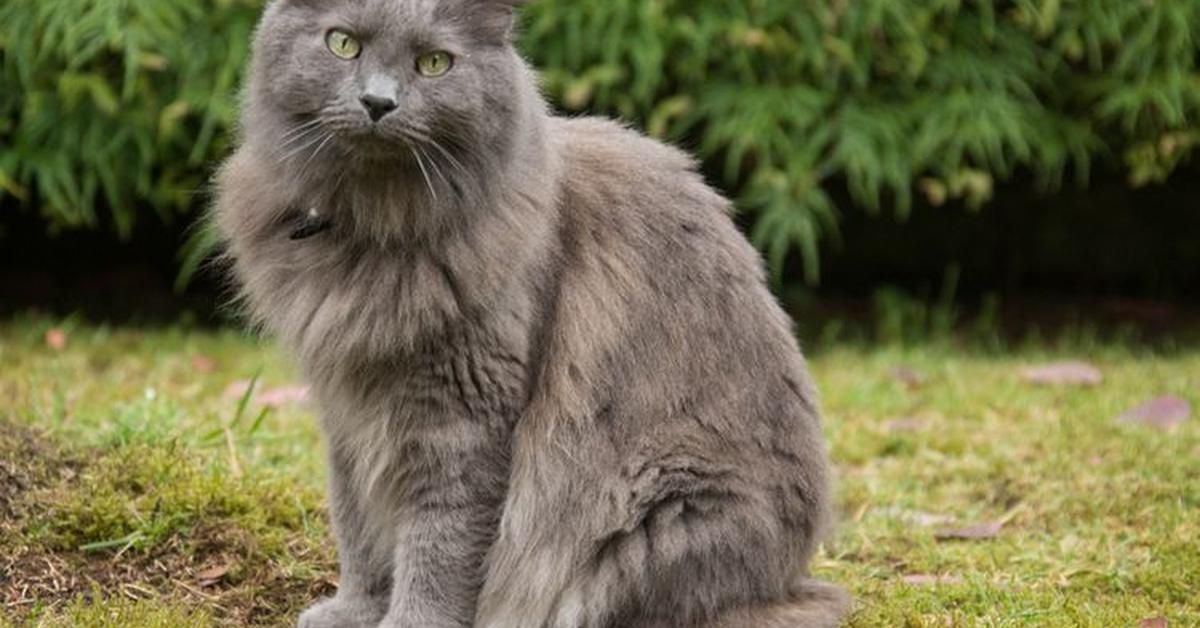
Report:
[[[329,502],[337,537],[341,584],[337,596],[300,616],[300,628],[372,628],[388,612],[391,591],[391,544],[372,531],[353,482],[350,453],[330,444]]]

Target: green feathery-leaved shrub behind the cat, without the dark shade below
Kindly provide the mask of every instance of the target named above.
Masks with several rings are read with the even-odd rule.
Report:
[[[55,228],[107,208],[122,235],[194,210],[259,8],[0,2],[0,196]],[[1200,144],[1196,0],[538,0],[522,22],[559,108],[696,150],[774,269],[798,251],[810,280],[851,209],[834,189],[902,217],[1018,172],[1160,183]]]

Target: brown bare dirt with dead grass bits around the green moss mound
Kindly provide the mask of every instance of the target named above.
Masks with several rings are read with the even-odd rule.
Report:
[[[329,543],[281,526],[284,550],[228,518],[202,519],[152,548],[55,549],[35,528],[56,500],[78,495],[103,453],[67,453],[46,436],[0,423],[0,617],[26,620],[78,599],[182,603],[220,626],[292,626],[313,599],[336,592]],[[72,492],[74,491],[74,492]],[[259,531],[259,534],[262,531]]]

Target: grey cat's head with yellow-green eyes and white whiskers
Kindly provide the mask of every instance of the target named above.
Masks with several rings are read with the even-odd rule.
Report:
[[[442,162],[510,143],[529,72],[522,0],[274,0],[254,40],[246,132],[281,162]]]

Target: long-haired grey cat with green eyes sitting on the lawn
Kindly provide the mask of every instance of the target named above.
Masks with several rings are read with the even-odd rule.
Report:
[[[817,394],[694,161],[552,115],[518,0],[274,0],[215,220],[322,415],[306,628],[840,623]]]

